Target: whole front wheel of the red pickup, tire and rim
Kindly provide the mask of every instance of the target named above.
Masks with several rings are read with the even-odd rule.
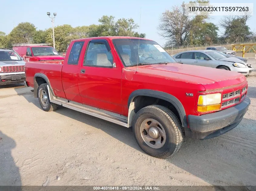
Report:
[[[139,110],[134,119],[133,132],[138,145],[156,158],[168,158],[181,147],[181,122],[168,108],[150,105]]]

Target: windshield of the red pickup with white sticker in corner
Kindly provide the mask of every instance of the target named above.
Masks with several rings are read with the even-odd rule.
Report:
[[[114,39],[115,49],[127,67],[140,64],[158,64],[175,60],[155,41],[140,39]]]

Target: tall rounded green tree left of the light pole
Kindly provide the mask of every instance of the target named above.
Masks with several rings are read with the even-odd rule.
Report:
[[[32,43],[35,35],[35,25],[29,22],[22,22],[17,25],[9,34],[12,43]]]

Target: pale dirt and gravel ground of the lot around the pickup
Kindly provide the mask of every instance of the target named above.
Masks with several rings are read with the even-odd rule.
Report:
[[[44,112],[32,88],[1,87],[0,185],[256,185],[256,72],[248,84],[238,127],[185,138],[166,160],[145,154],[131,129],[64,107]]]

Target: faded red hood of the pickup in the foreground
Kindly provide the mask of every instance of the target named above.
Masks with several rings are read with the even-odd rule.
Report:
[[[127,69],[137,71],[137,66]],[[171,81],[182,81],[201,84],[205,88],[204,91],[227,88],[246,81],[244,75],[238,72],[179,63],[138,66],[137,74],[151,76],[152,81],[156,77],[164,78],[170,83],[172,83]]]

